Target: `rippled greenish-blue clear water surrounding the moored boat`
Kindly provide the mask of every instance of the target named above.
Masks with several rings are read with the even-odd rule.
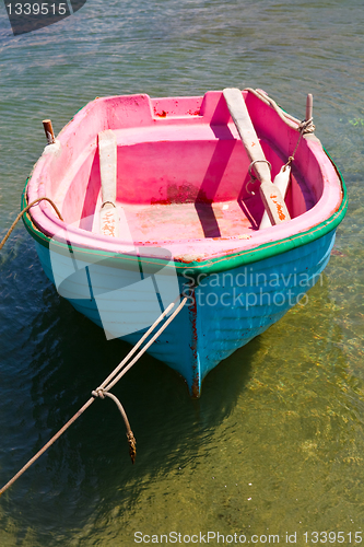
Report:
[[[312,92],[316,133],[350,198],[308,304],[212,371],[198,401],[144,357],[115,388],[136,465],[116,408],[96,401],[0,499],[1,547],[129,547],[137,531],[281,534],[281,544],[297,532],[296,545],[305,532],[343,531],[354,544],[364,524],[362,2],[87,0],[20,37],[3,5],[0,18],[0,235],[45,144],[42,119],[58,131],[110,94],[254,86],[303,118]],[[0,255],[1,484],[128,349],[58,296],[19,225]]]

